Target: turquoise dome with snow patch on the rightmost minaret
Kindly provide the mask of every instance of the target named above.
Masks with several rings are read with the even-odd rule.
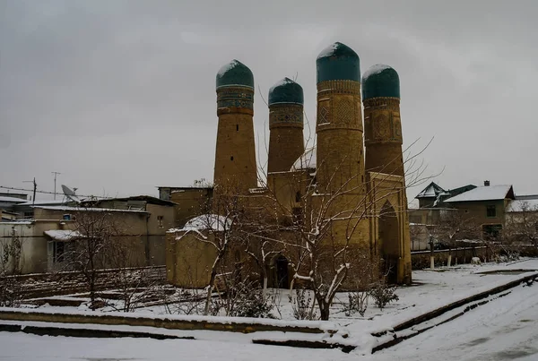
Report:
[[[388,65],[377,64],[362,75],[362,99],[400,98],[400,77]]]

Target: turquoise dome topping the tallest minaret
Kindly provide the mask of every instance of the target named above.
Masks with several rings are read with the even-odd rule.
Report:
[[[325,47],[316,60],[317,82],[360,82],[360,59],[357,53],[342,43]]]

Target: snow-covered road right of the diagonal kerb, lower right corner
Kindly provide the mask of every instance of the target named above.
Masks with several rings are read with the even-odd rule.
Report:
[[[521,358],[520,358],[521,357]],[[537,360],[538,284],[380,351],[373,359]]]

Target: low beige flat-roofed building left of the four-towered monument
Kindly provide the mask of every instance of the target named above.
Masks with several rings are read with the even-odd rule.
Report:
[[[37,203],[37,202],[36,202]],[[88,214],[104,214],[114,219],[118,239],[129,239],[138,265],[165,264],[166,230],[174,224],[174,203],[151,196],[114,198],[96,202],[24,205],[30,207],[31,219],[0,223],[0,243],[17,236],[22,244],[22,273],[62,270],[65,254]],[[30,213],[30,211],[28,212]]]

